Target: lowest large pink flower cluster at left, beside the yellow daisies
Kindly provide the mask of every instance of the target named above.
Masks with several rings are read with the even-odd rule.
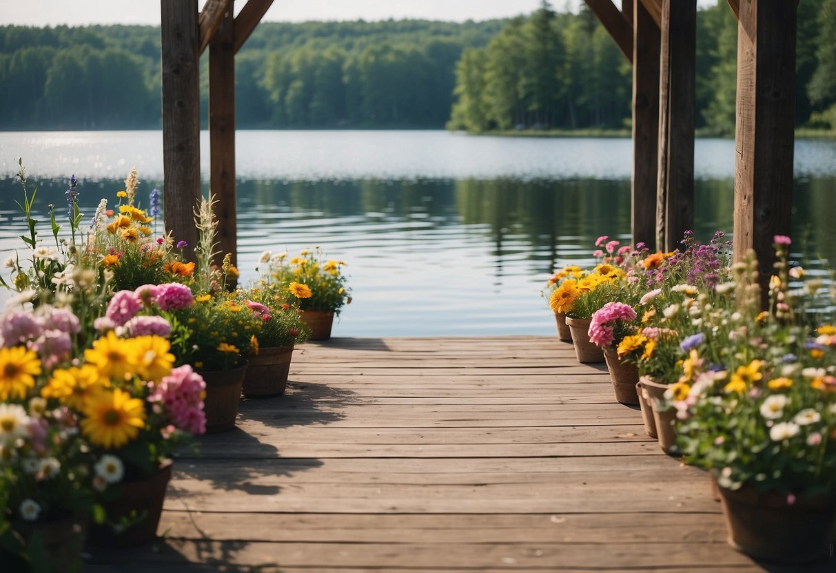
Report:
[[[191,434],[206,432],[206,415],[203,413],[201,394],[206,383],[200,374],[185,364],[173,368],[171,374],[160,383],[151,385],[150,403],[161,403],[177,428]]]

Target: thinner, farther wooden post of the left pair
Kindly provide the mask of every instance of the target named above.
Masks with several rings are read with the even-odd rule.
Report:
[[[235,52],[232,3],[209,40],[210,190],[217,198],[218,251],[237,265]],[[221,261],[216,261],[220,264]]]

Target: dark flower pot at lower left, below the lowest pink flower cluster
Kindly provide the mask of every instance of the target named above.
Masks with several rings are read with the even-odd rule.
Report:
[[[170,480],[171,461],[166,461],[145,479],[111,485],[112,491],[108,497],[115,494],[115,498],[102,503],[107,522],[90,525],[90,543],[104,547],[125,547],[155,540]],[[114,530],[111,524],[119,526],[123,520],[129,525]]]

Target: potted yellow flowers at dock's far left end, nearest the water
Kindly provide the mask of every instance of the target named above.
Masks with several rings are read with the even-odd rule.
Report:
[[[351,302],[351,292],[345,286],[342,272],[345,261],[326,259],[324,252],[304,249],[299,256],[288,260],[286,253],[262,256],[268,265],[270,287],[281,292],[290,304],[298,304],[302,319],[311,329],[310,340],[327,340],[331,337],[334,316],[339,317],[342,307]]]

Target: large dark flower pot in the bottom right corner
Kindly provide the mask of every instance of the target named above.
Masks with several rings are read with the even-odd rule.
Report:
[[[826,560],[833,542],[836,495],[787,495],[758,492],[752,485],[720,488],[728,542],[750,557],[774,563]]]

